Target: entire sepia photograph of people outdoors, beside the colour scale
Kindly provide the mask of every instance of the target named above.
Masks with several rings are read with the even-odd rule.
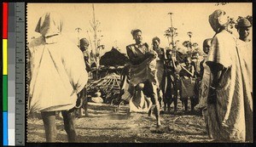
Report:
[[[253,3],[26,3],[27,143],[253,143]]]

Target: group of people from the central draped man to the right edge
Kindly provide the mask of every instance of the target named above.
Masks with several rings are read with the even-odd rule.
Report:
[[[179,93],[185,113],[189,99],[192,112],[199,105],[209,138],[252,142],[253,61],[250,53],[253,48],[248,38],[252,24],[246,18],[238,20],[239,38],[236,38],[229,30],[229,16],[223,10],[209,15],[209,23],[216,34],[203,42],[207,57],[201,62],[196,52],[180,62],[173,50],[160,48],[159,37],[152,39],[150,48],[143,42],[141,30],[131,31],[135,43],[126,47],[131,61],[128,87],[133,88],[132,91],[127,88],[132,96],[130,103],[136,104],[135,99],[145,96],[150,98],[156,125],[160,127],[161,100],[165,111],[166,108],[170,111],[173,102],[174,112],[177,112]],[[137,94],[142,92],[144,95]],[[137,104],[137,107],[143,106],[141,102]],[[150,116],[150,108],[148,113]]]

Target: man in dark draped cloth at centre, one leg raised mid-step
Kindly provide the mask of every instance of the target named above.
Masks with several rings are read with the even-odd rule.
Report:
[[[154,50],[148,48],[146,42],[143,42],[141,30],[132,30],[131,35],[135,43],[126,47],[127,55],[131,61],[131,85],[136,89],[136,93],[143,91],[151,99],[157,122],[156,126],[160,127],[160,104],[156,80],[157,54]],[[149,113],[151,113],[151,110],[149,110]]]

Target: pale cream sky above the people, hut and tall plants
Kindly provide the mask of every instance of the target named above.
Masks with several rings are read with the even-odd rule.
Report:
[[[153,37],[160,37],[160,47],[166,48],[168,40],[164,32],[172,23],[177,28],[178,36],[175,40],[182,42],[189,40],[188,31],[193,32],[192,42],[197,42],[202,48],[202,42],[214,35],[208,23],[208,16],[216,9],[223,9],[236,18],[238,16],[252,15],[252,3],[95,3],[96,20],[100,22],[99,36],[105,45],[105,52],[116,45],[122,53],[125,47],[134,42],[131,30],[143,31],[143,42],[151,45]],[[28,3],[27,4],[27,41],[32,37],[39,37],[35,27],[41,15],[55,11],[64,19],[63,34],[74,43],[78,37],[93,39],[90,21],[93,18],[92,3]],[[81,28],[78,34],[75,28]],[[87,33],[87,31],[89,33]],[[235,31],[236,32],[236,31]],[[235,35],[237,35],[235,33]],[[180,45],[182,47],[182,45]]]

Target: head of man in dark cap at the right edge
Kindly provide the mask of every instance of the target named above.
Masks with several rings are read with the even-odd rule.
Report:
[[[241,18],[241,19],[238,20],[237,25],[236,25],[236,29],[238,31],[239,38],[242,41],[244,41],[244,42],[249,41],[248,37],[250,35],[251,28],[252,28],[252,24],[246,18]]]

